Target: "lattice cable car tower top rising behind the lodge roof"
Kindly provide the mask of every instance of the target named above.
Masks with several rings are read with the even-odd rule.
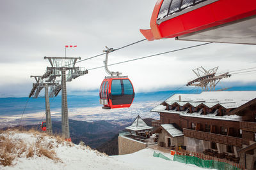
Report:
[[[216,85],[223,78],[228,78],[231,76],[228,72],[223,74],[216,75],[218,67],[209,69],[208,71],[204,67],[198,67],[193,69],[193,72],[196,74],[197,78],[192,81],[189,81],[186,86],[195,86],[201,87],[203,91],[214,91]]]

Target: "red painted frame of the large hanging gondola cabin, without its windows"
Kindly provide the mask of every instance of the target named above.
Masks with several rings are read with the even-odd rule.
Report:
[[[104,105],[104,107],[109,107],[109,108],[113,109],[113,108],[129,108],[131,106],[134,98],[132,99],[131,104],[118,104],[118,105],[113,105],[112,100],[108,98],[108,95],[111,93],[112,80],[120,80],[120,79],[129,80],[129,78],[105,78],[102,81],[102,83],[100,85],[100,99],[108,99],[108,105]],[[108,94],[107,94],[107,92],[105,92],[105,88],[104,88],[104,92],[103,92],[104,94],[106,94],[106,97],[102,97],[103,95],[101,93],[102,85],[103,85],[104,81],[108,81]],[[131,82],[131,80],[129,80],[129,81]],[[106,85],[106,83],[105,83],[105,85]],[[132,82],[131,82],[131,85],[132,85]],[[132,89],[134,90],[133,85],[132,85]]]

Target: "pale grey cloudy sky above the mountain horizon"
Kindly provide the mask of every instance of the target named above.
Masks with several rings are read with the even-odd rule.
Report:
[[[28,96],[34,80],[49,62],[44,56],[86,59],[102,53],[104,46],[118,48],[143,39],[140,29],[148,29],[156,0],[94,1],[0,1],[0,97]],[[200,42],[161,39],[143,41],[109,54],[109,64],[166,52]],[[203,66],[219,66],[220,72],[256,67],[253,45],[212,43],[111,66],[111,71],[128,75],[136,92],[170,90],[195,77],[191,71]],[[104,56],[79,62],[90,69],[103,66]],[[68,92],[98,90],[104,68],[89,71],[72,82]],[[255,85],[255,73],[244,73],[224,80],[225,85]]]

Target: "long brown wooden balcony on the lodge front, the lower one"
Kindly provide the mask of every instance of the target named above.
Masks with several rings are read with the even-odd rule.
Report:
[[[183,133],[184,136],[187,136],[189,138],[196,138],[204,141],[212,141],[215,143],[242,147],[242,138],[236,138],[233,136],[226,136],[222,134],[214,134],[211,132],[196,131],[186,128],[183,129]]]

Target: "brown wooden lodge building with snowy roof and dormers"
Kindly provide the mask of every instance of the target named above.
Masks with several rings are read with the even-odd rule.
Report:
[[[256,91],[175,94],[151,111],[158,145],[227,154],[256,168]]]

